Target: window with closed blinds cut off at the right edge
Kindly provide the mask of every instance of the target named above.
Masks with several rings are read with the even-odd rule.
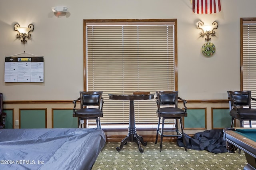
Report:
[[[256,97],[256,19],[242,19],[242,89]],[[256,108],[256,102],[252,101]]]

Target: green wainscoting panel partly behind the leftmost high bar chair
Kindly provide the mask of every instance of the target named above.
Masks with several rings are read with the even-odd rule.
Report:
[[[77,128],[78,118],[73,109],[52,109],[52,128]]]

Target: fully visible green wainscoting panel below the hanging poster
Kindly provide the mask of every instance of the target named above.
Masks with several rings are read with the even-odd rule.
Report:
[[[20,128],[46,128],[46,109],[20,109]]]

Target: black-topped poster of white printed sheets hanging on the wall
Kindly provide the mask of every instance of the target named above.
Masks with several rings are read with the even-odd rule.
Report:
[[[44,57],[5,57],[4,82],[44,82]]]

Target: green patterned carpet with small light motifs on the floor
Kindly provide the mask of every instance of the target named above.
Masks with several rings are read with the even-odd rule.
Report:
[[[92,170],[242,170],[247,164],[244,152],[214,154],[206,150],[188,149],[176,142],[148,142],[141,154],[134,142],[128,142],[120,152],[120,142],[107,142]]]

